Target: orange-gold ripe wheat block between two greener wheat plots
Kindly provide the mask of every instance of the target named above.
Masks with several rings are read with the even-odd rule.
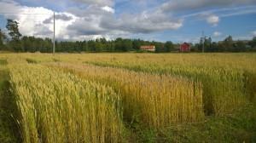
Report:
[[[53,65],[51,65],[53,66]],[[172,123],[189,123],[203,118],[201,83],[183,77],[158,76],[143,72],[55,64],[85,79],[108,84],[122,96],[124,117],[156,129]]]

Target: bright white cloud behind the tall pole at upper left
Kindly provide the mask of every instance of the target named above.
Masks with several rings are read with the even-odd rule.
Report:
[[[43,7],[27,7],[15,1],[1,1],[0,12],[17,14],[3,14],[6,19],[14,19],[20,23],[20,32],[26,36],[51,37],[53,24],[51,22],[54,11]],[[72,25],[78,17],[68,13],[56,13],[56,37],[67,34],[67,26]]]

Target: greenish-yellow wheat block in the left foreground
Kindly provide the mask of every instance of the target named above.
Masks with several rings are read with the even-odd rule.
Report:
[[[44,66],[9,66],[24,142],[118,142],[119,96]]]

